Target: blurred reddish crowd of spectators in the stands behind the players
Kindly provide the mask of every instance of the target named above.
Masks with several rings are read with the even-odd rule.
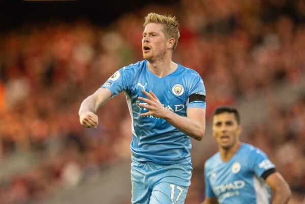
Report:
[[[101,107],[97,129],[79,125],[78,108],[117,69],[141,60],[143,17],[151,11],[178,18],[174,61],[202,76],[207,119],[218,105],[269,93],[279,82],[297,83],[305,72],[302,0],[181,0],[123,14],[107,27],[52,21],[2,34],[0,162],[18,152],[35,153],[38,160],[23,173],[0,179],[1,204],[43,199],[129,156],[130,114],[123,95]],[[296,192],[291,203],[300,203],[305,98],[278,105],[244,141],[269,155]],[[194,169],[197,178],[201,173]],[[203,187],[203,180],[193,181],[187,203],[203,200]]]

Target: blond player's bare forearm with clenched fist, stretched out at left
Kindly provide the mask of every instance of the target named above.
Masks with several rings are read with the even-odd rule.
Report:
[[[110,98],[110,90],[104,88],[99,88],[95,93],[85,98],[78,111],[80,124],[86,128],[97,127],[99,119],[95,113]]]

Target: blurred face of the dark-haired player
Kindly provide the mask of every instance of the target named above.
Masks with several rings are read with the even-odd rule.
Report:
[[[241,128],[234,113],[224,112],[213,116],[212,131],[218,146],[229,150],[239,141]]]

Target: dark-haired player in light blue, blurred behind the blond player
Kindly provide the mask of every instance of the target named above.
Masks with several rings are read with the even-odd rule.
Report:
[[[236,108],[220,106],[212,116],[212,134],[219,152],[204,166],[205,200],[202,204],[284,204],[290,189],[275,165],[260,149],[239,141]]]

